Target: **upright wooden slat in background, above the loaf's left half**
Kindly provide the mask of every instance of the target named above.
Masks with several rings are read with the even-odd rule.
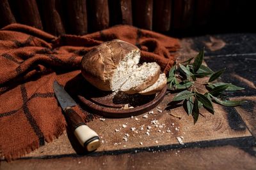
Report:
[[[90,32],[106,29],[109,26],[108,0],[87,1],[88,29]]]

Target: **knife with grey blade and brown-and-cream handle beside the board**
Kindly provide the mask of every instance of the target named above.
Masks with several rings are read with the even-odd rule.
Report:
[[[71,127],[79,143],[84,146],[88,152],[97,150],[100,146],[99,135],[90,129],[76,111],[72,109],[77,103],[56,80],[53,83],[53,90],[62,110],[65,112],[68,126]]]

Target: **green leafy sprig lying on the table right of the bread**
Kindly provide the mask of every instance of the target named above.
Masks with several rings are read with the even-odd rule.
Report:
[[[194,61],[191,64],[193,59]],[[200,108],[204,107],[211,114],[214,114],[215,110],[212,102],[223,106],[238,106],[245,102],[229,101],[223,92],[244,90],[244,88],[232,85],[232,83],[217,82],[225,68],[214,72],[209,67],[202,65],[203,60],[204,49],[195,58],[193,57],[180,64],[175,63],[170,69],[167,79],[168,89],[172,92],[179,92],[173,98],[173,101],[183,102],[184,110],[188,115],[193,116],[194,124],[200,115]],[[198,78],[205,77],[209,78],[207,82],[198,83]]]

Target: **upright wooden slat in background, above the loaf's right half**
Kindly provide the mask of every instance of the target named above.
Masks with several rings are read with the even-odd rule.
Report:
[[[120,0],[122,24],[132,25],[132,2],[131,0]]]

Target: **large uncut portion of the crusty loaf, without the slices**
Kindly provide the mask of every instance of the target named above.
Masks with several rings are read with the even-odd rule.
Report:
[[[81,60],[84,78],[100,90],[118,90],[138,68],[140,49],[115,39],[102,43]]]

